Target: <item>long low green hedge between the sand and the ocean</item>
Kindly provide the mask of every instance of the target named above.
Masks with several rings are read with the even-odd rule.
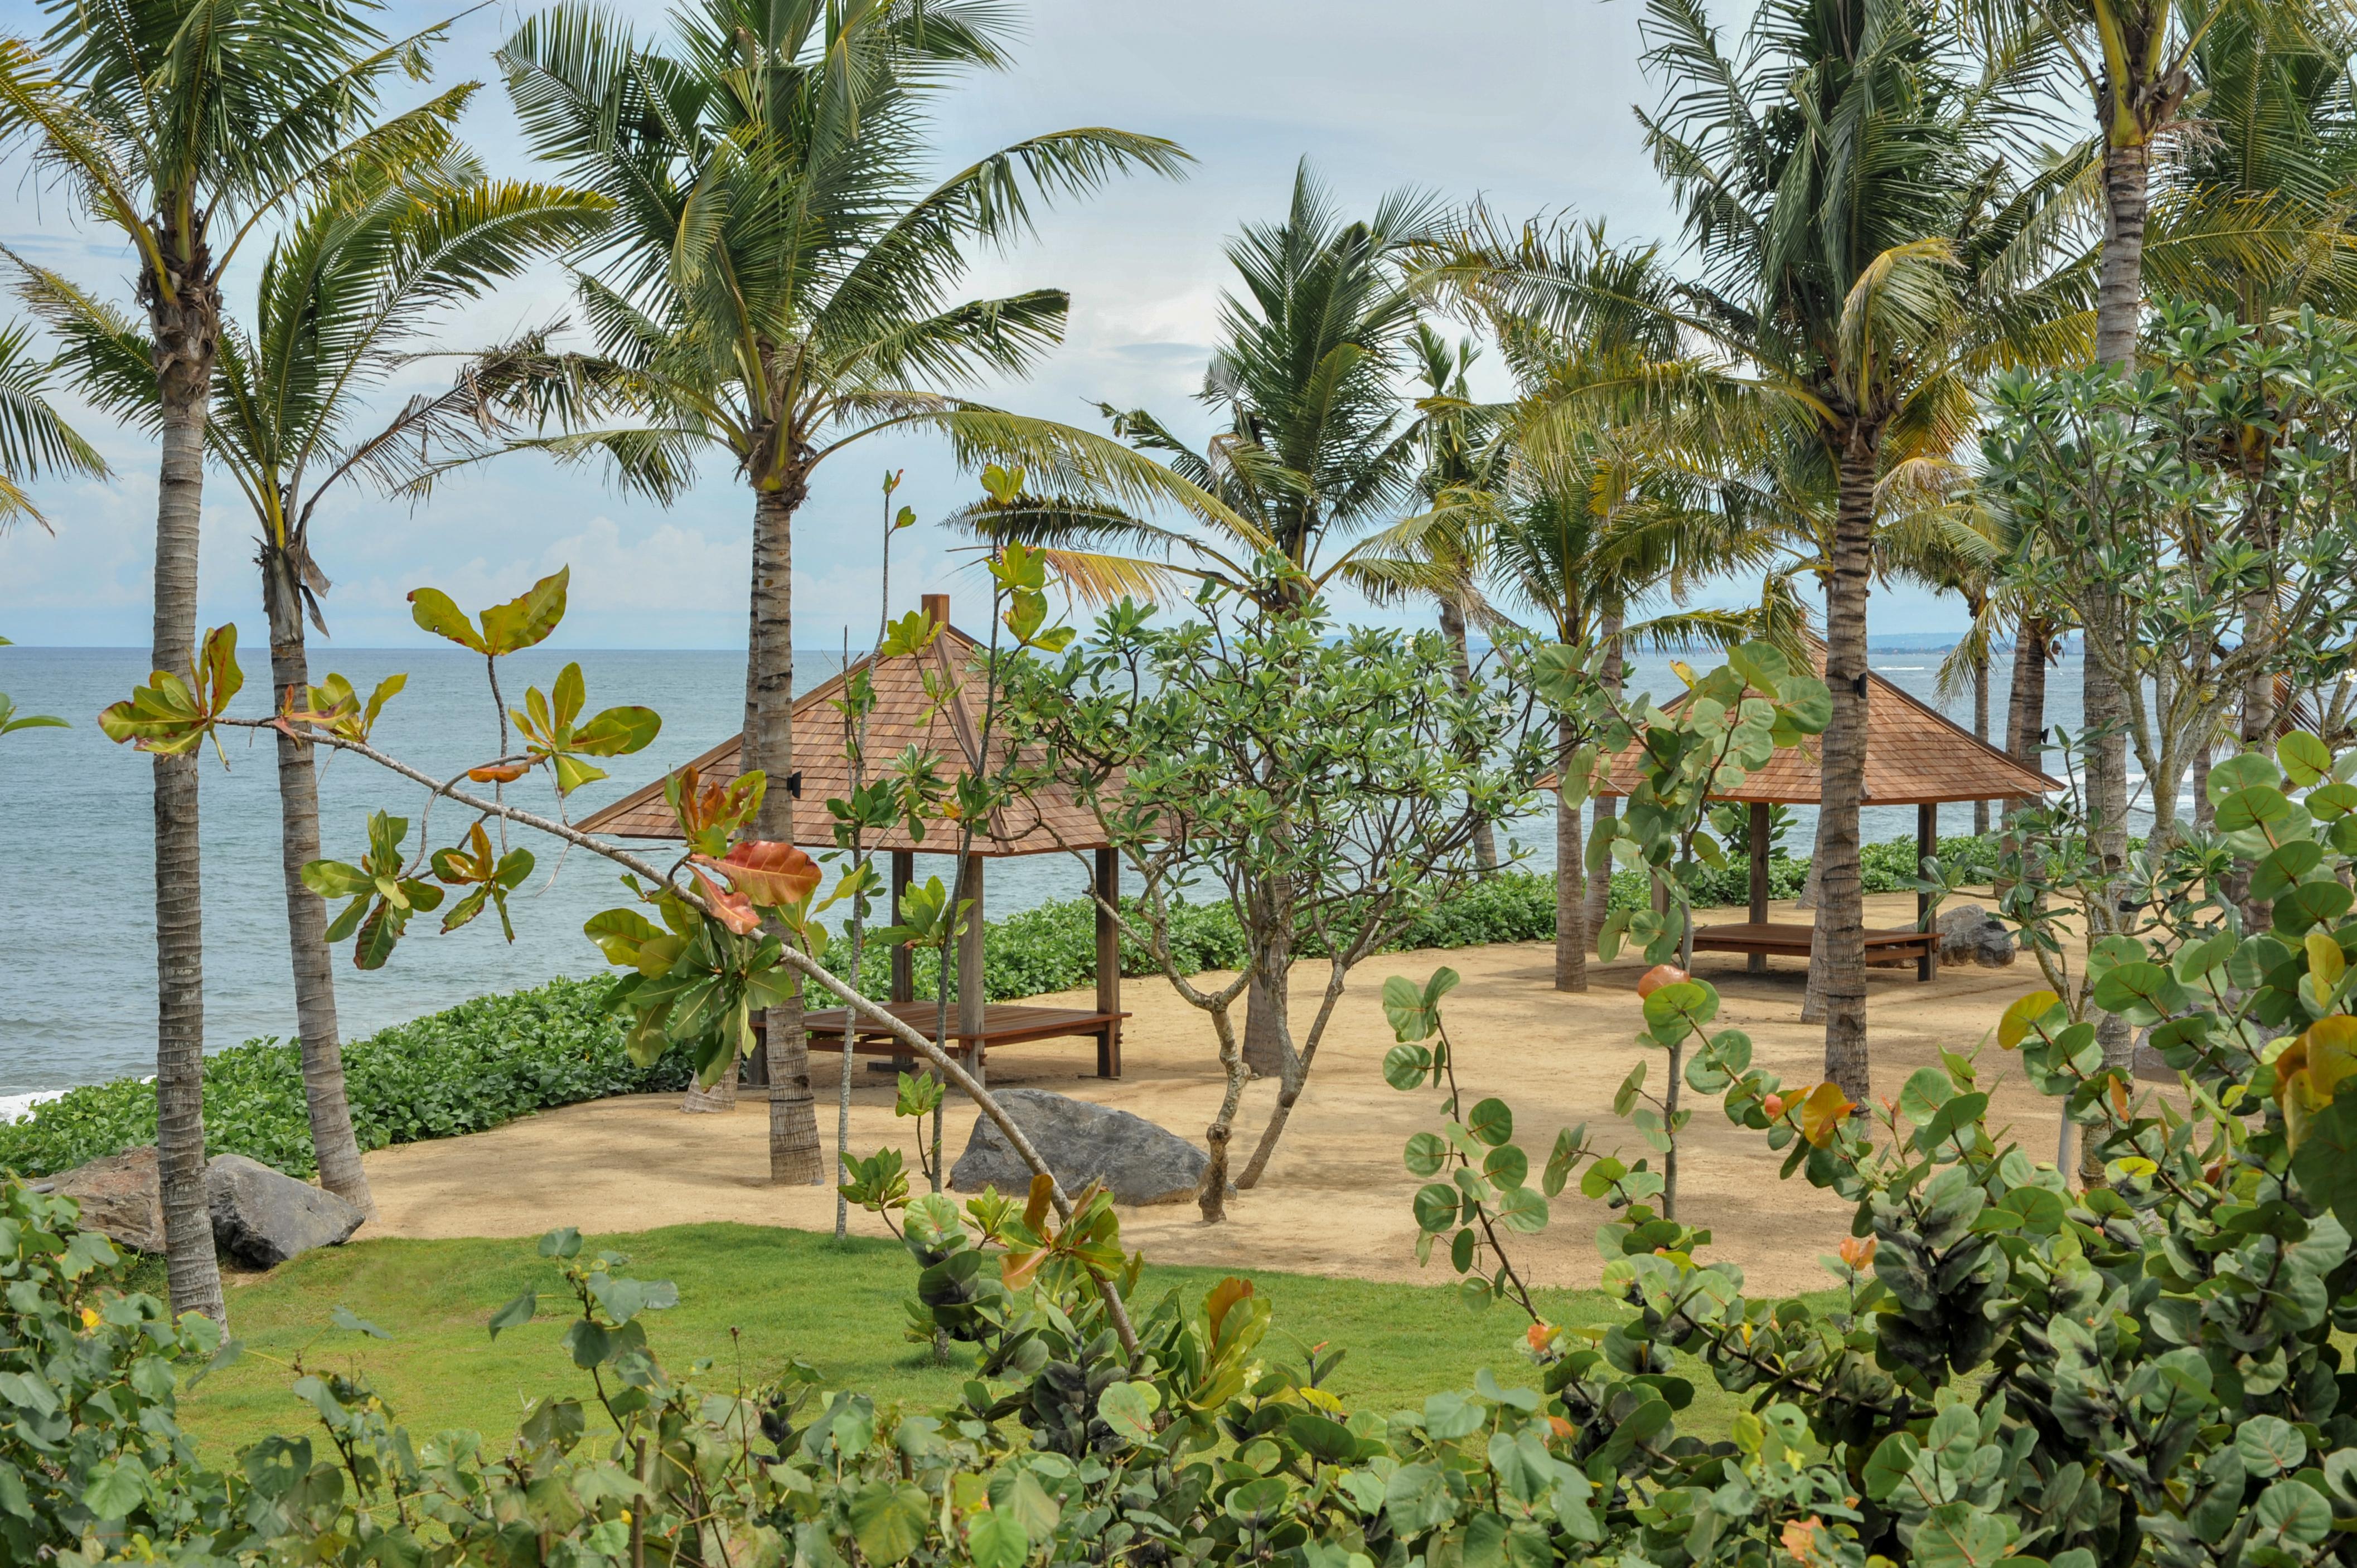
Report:
[[[1994,865],[1996,842],[1942,839],[1940,854],[1963,865]],[[1770,861],[1777,898],[1796,896],[1805,879],[1808,861]],[[1869,894],[1912,887],[1914,844],[1867,844],[1864,882]],[[1615,908],[1636,908],[1643,898],[1643,875],[1612,877]],[[1704,898],[1744,903],[1747,868],[1706,877]],[[1468,887],[1447,905],[1426,910],[1395,950],[1553,936],[1553,877],[1506,870]],[[1244,955],[1244,938],[1226,903],[1178,905],[1171,946],[1188,969],[1233,969]],[[1089,986],[1096,976],[1094,905],[1068,898],[995,920],[983,934],[983,953],[992,1002]],[[837,943],[830,957],[837,967],[849,964],[849,943]],[[1146,943],[1122,943],[1122,974],[1160,974]],[[933,995],[936,976],[933,955],[917,955],[917,995]],[[684,1089],[684,1054],[672,1052],[651,1068],[629,1061],[620,1021],[599,1009],[606,986],[606,979],[559,979],[530,990],[476,997],[354,1040],[344,1047],[344,1080],[361,1148],[483,1132],[533,1111],[608,1094]],[[884,948],[870,948],[860,962],[860,990],[882,997],[889,986],[891,957]],[[0,1122],[0,1170],[40,1177],[153,1141],[153,1085],[118,1078],[68,1089],[19,1122]],[[295,1045],[247,1040],[205,1059],[205,1144],[212,1153],[250,1155],[304,1177],[313,1172],[302,1052]]]

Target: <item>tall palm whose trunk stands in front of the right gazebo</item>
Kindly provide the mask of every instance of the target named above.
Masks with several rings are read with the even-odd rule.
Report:
[[[2018,116],[1996,78],[1945,47],[1930,0],[1770,0],[1737,57],[1688,0],[1650,0],[1645,33],[1664,106],[1640,120],[1702,264],[1671,314],[1718,361],[1716,387],[1688,396],[1723,410],[1732,450],[1805,450],[1831,479],[1817,938],[1824,1070],[1862,1099],[1876,498],[1895,467],[1956,450],[1978,375],[2074,342],[2074,299],[2048,276],[2067,167],[2013,174]],[[1508,264],[1499,288],[1532,314],[1549,299],[1657,314],[1546,266]]]

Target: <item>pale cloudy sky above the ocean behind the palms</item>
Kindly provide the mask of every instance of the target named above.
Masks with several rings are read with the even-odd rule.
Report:
[[[462,134],[493,174],[535,167],[493,68],[497,42],[535,7],[490,5],[464,17],[436,52],[434,85],[483,80]],[[641,31],[665,28],[653,0],[613,5]],[[1096,403],[1143,406],[1188,436],[1204,434],[1193,401],[1216,332],[1228,266],[1221,243],[1240,222],[1282,212],[1308,158],[1348,212],[1395,186],[1499,212],[1603,217],[1622,238],[1673,238],[1673,217],[1643,153],[1631,106],[1650,104],[1631,0],[1485,0],[1466,7],[1405,0],[1188,0],[1131,5],[1028,0],[1023,42],[1006,73],[973,78],[938,116],[940,167],[952,170],[1021,137],[1117,125],[1169,137],[1195,156],[1190,177],[1117,184],[1063,203],[1039,236],[1009,255],[978,255],[969,292],[1065,288],[1065,342],[1035,375],[978,396],[1101,429]],[[1739,26],[1739,12],[1721,5]],[[415,28],[438,7],[394,0],[387,28]],[[0,31],[31,31],[28,0],[0,0]],[[80,229],[68,205],[24,163],[0,179],[7,245],[120,302],[132,262],[123,243]],[[226,302],[250,299],[259,248],[240,257]],[[445,347],[478,347],[563,318],[566,278],[547,266],[455,311]],[[415,382],[384,389],[387,413]],[[1480,384],[1485,394],[1501,382]],[[71,403],[68,403],[71,406]],[[156,450],[134,431],[80,410],[113,465],[106,481],[42,483],[35,502],[54,533],[0,535],[0,634],[28,646],[148,641]],[[959,599],[985,589],[971,554],[936,526],[978,495],[931,439],[872,441],[830,457],[794,533],[794,644],[865,646],[879,611],[879,479],[905,469],[896,505],[919,526],[893,545],[893,611],[919,592]],[[344,646],[422,646],[405,594],[420,585],[462,606],[509,599],[535,578],[573,568],[559,646],[731,648],[745,641],[750,495],[726,462],[705,462],[669,509],[615,495],[594,469],[535,455],[502,457],[445,483],[429,505],[365,493],[323,502],[313,554],[335,582],[325,599]],[[255,523],[224,481],[207,483],[200,618],[259,632]],[[1756,582],[1728,580],[1704,601],[1744,604]],[[1428,613],[1343,601],[1348,620],[1424,622]],[[973,622],[971,613],[959,620]],[[1963,608],[1919,589],[1876,589],[1871,630],[1961,630]]]

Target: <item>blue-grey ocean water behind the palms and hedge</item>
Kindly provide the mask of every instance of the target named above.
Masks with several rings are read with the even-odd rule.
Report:
[[[259,665],[259,651],[247,651]],[[313,679],[337,670],[365,693],[396,670],[410,674],[377,726],[379,743],[438,776],[495,755],[497,722],[481,660],[453,651],[323,648]],[[589,710],[646,703],[662,712],[662,736],[636,757],[610,759],[613,778],[587,785],[568,802],[582,816],[618,795],[660,778],[709,750],[742,722],[742,653],[528,651],[502,663],[509,705],[526,686],[547,686],[568,658],[587,677]],[[834,672],[834,653],[797,653],[804,686]],[[1904,691],[1935,700],[1937,655],[1876,655],[1876,672]],[[19,731],[0,740],[0,1115],[7,1101],[153,1070],[156,936],[153,858],[146,757],[111,745],[94,714],[144,679],[137,648],[0,648],[0,691],[19,712],[52,712],[73,729]],[[259,714],[266,667],[247,670],[240,712]],[[1636,689],[1676,691],[1666,658],[1636,663]],[[2077,726],[2077,663],[2053,672],[2048,722]],[[1996,693],[2003,710],[2003,693]],[[1954,714],[1966,719],[1968,710]],[[207,1049],[259,1035],[295,1035],[295,990],[285,953],[285,894],[278,872],[278,776],[269,736],[224,738],[226,769],[210,750],[203,769],[205,846],[205,1035]],[[544,783],[516,785],[523,804],[549,804]],[[424,792],[335,757],[321,778],[321,839],[332,858],[356,861],[365,849],[372,809],[420,813]],[[448,813],[448,816],[445,816]],[[434,813],[457,825],[443,802]],[[1798,813],[1791,844],[1805,854],[1815,823]],[[1942,830],[1966,832],[1970,806],[1945,806]],[[1907,837],[1914,809],[1867,811],[1864,837]],[[436,842],[448,835],[436,828]],[[1530,851],[1527,865],[1551,870],[1553,830],[1546,816],[1508,835]],[[608,863],[559,856],[533,844],[540,868],[511,901],[516,941],[483,915],[450,936],[436,917],[420,917],[410,936],[377,971],[337,960],[337,1012],[346,1040],[450,1007],[488,990],[540,983],[554,974],[603,974],[606,962],[582,936],[582,920],[625,901]],[[917,875],[948,877],[948,858],[919,856]],[[1070,856],[997,861],[990,870],[990,913],[1004,915],[1087,887],[1087,870]]]

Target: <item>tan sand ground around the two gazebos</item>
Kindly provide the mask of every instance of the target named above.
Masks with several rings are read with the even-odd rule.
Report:
[[[1798,917],[1805,915],[1780,915]],[[1867,898],[1869,924],[1907,924],[1909,894]],[[1666,1056],[1638,1045],[1638,962],[1589,967],[1591,990],[1553,990],[1551,943],[1511,943],[1442,953],[1395,953],[1362,964],[1320,1047],[1292,1127],[1259,1188],[1237,1193],[1228,1224],[1207,1226],[1190,1203],[1122,1210],[1122,1240],[1174,1264],[1289,1269],[1372,1280],[1454,1278],[1440,1261],[1419,1271],[1409,1198],[1419,1181],[1400,1162],[1412,1132],[1438,1125],[1438,1096],[1400,1094],[1384,1082],[1393,1045],[1379,1004],[1384,976],[1424,979],[1440,964],[1464,983],[1447,1000],[1459,1082],[1468,1096],[1499,1094],[1516,1111],[1516,1134],[1532,1160],[1546,1158],[1556,1129],[1586,1122],[1605,1148],[1650,1153],[1612,1118],[1612,1092],[1650,1056],[1659,1085]],[[1721,1023],[1744,1028],[1754,1061],[1787,1085],[1822,1078],[1824,1030],[1803,1026],[1805,964],[1772,960],[1770,974],[1744,974],[1739,955],[1704,953],[1697,971],[1718,986]],[[1994,1028],[2006,1002],[2039,986],[2025,960],[2011,969],[1942,969],[1919,983],[1914,969],[1869,969],[1874,1087],[1895,1096],[1907,1075],[1937,1061],[1940,1049],[1970,1052]],[[1308,1023],[1322,964],[1294,981],[1299,1023]],[[1080,993],[1072,993],[1075,997]],[[1047,997],[1044,997],[1047,1000]],[[1221,1092],[1204,1014],[1164,981],[1124,983],[1134,1012],[1124,1033],[1124,1075],[1094,1075],[1094,1042],[1018,1045],[990,1056],[992,1085],[1035,1085],[1134,1111],[1162,1127],[1202,1139]],[[813,1042],[820,1132],[834,1141],[839,1059]],[[884,1144],[910,1153],[915,1125],[891,1115],[891,1075],[853,1070],[851,1148]],[[2053,1148],[2055,1113],[1992,1045],[1982,1080],[1994,1080],[1992,1122],[2013,1125],[2029,1151]],[[368,1179],[382,1219],[363,1236],[537,1236],[549,1226],[643,1231],[669,1224],[735,1219],[747,1224],[832,1228],[834,1191],[768,1184],[768,1106],[745,1096],[726,1115],[684,1115],[679,1096],[629,1096],[530,1115],[493,1132],[405,1144],[368,1155]],[[1237,1118],[1237,1170],[1275,1103],[1273,1082],[1254,1082]],[[950,1158],[976,1120],[952,1103]],[[1805,1181],[1780,1181],[1782,1155],[1732,1127],[1704,1101],[1681,1141],[1681,1212],[1714,1231],[1714,1257],[1744,1266],[1754,1290],[1813,1290],[1817,1266],[1848,1236],[1850,1207]],[[922,1177],[919,1177],[922,1188]],[[1565,1191],[1553,1224],[1527,1238],[1523,1254],[1534,1283],[1593,1285],[1600,1205]],[[858,1233],[884,1236],[874,1214],[851,1212]]]

